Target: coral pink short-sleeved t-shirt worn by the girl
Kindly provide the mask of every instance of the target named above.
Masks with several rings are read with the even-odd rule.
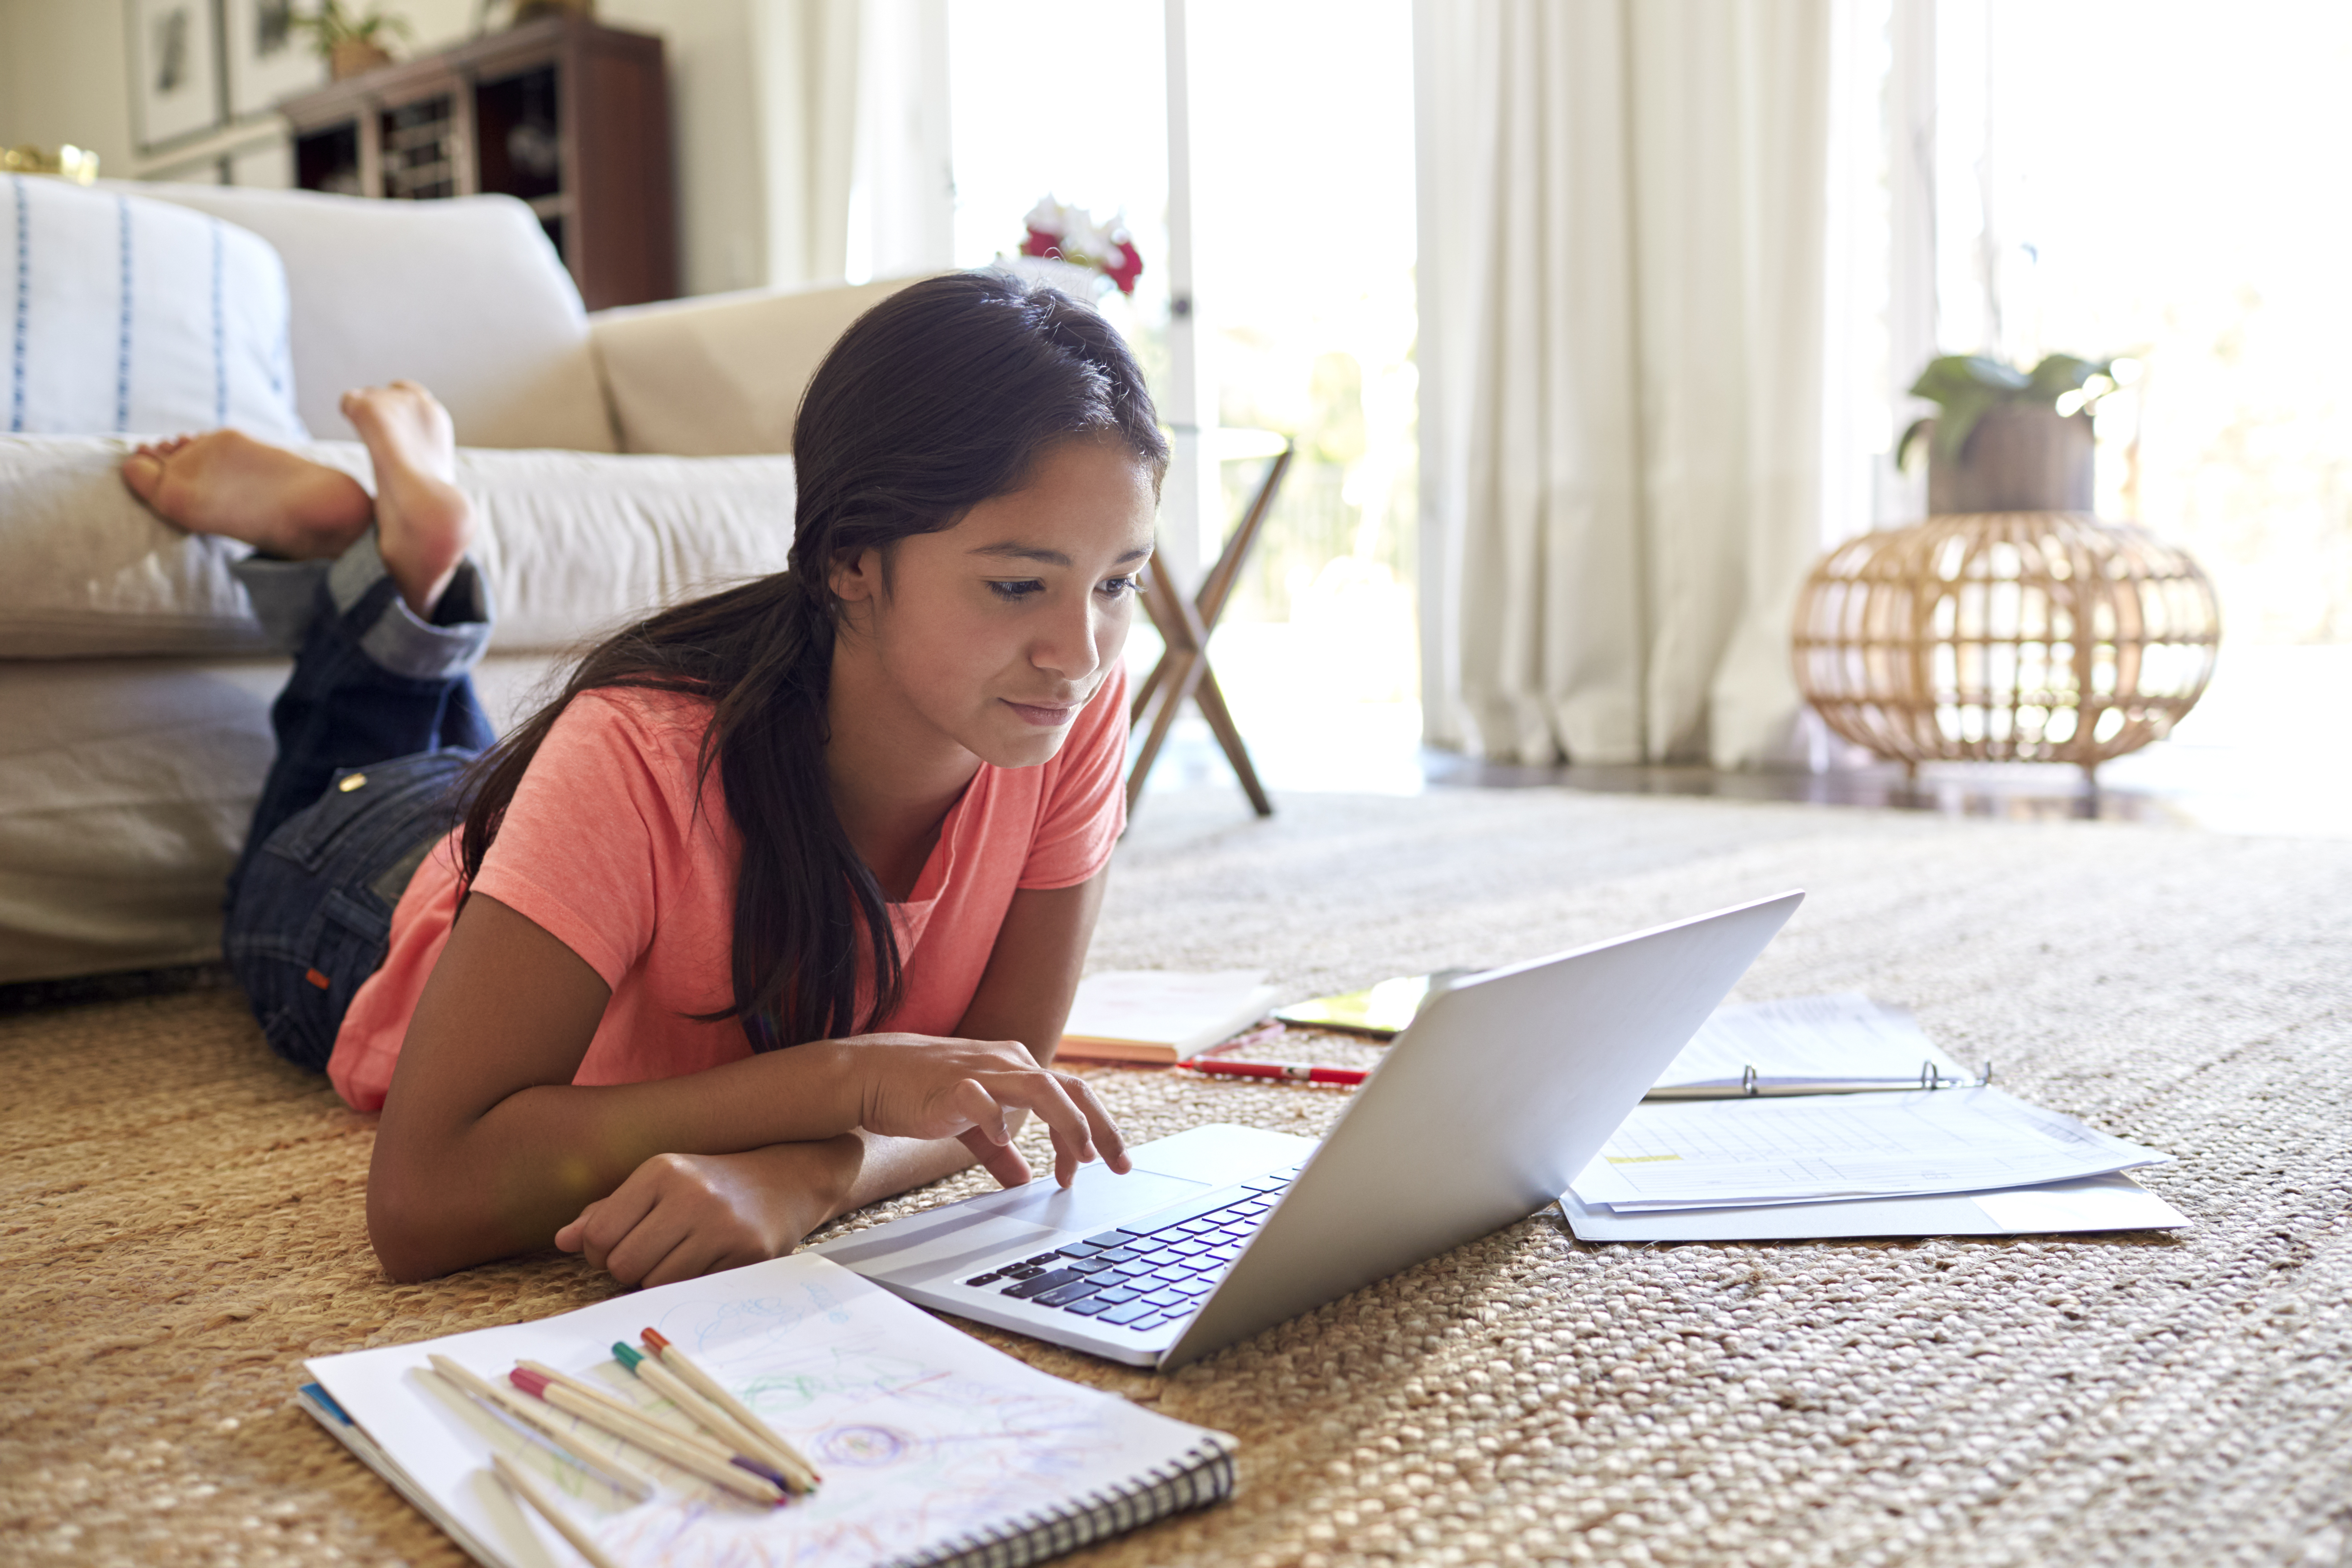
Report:
[[[612,987],[574,1084],[637,1084],[750,1056],[734,1001],[736,830],[717,769],[694,811],[710,705],[597,689],[555,719],[515,788],[475,889],[536,922]],[[877,1027],[953,1034],[1018,889],[1077,886],[1127,825],[1127,675],[1112,672],[1061,750],[1033,769],[981,764],[906,903],[891,905],[906,1001]],[[416,999],[456,919],[456,835],[416,867],[390,950],[327,1060],[336,1093],[381,1110]]]

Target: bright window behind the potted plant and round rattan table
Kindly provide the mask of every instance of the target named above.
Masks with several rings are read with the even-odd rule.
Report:
[[[2352,682],[2352,9],[1858,0],[1853,19],[1879,167],[1839,176],[1846,240],[1893,277],[1856,289],[1832,357],[1889,393],[1846,425],[1879,454],[1867,510],[1917,515],[1884,451],[1926,411],[1900,393],[1929,353],[2138,360],[2100,404],[2098,510],[2197,557],[2223,654],[2176,738],[2103,778],[2194,795],[2209,825],[2340,832],[2317,792],[2352,766],[2331,724]],[[2305,778],[2312,813],[2286,799]]]

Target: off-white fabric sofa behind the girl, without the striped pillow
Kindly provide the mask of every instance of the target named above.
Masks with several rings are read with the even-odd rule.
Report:
[[[586,315],[508,197],[127,186],[268,240],[308,451],[367,482],[343,388],[409,376],[456,423],[510,722],[560,656],[654,604],[783,564],[790,425],[840,331],[898,284]],[[169,435],[167,430],[139,435]],[[270,757],[238,548],[122,489],[129,437],[0,435],[0,983],[202,961]]]

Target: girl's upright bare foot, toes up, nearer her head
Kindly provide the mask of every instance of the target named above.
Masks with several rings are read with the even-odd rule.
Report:
[[[456,480],[449,409],[414,381],[343,393],[343,418],[376,463],[376,548],[400,597],[430,616],[473,541],[473,503]]]

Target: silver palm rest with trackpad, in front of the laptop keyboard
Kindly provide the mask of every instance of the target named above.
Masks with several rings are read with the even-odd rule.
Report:
[[[882,1225],[887,1234],[847,1237],[818,1248],[858,1274],[941,1274],[1051,1234],[1110,1229],[1120,1220],[1181,1204],[1209,1182],[1157,1171],[1115,1175],[1101,1164],[1080,1168],[1068,1192],[1051,1178],[948,1204],[931,1213]]]

